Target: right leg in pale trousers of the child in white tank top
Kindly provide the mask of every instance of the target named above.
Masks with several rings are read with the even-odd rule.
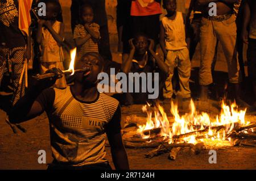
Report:
[[[177,70],[179,73],[180,90],[179,95],[182,98],[190,98],[191,91],[189,89],[189,78],[191,74],[191,62],[189,60],[189,52],[187,48],[177,51],[178,62]]]

